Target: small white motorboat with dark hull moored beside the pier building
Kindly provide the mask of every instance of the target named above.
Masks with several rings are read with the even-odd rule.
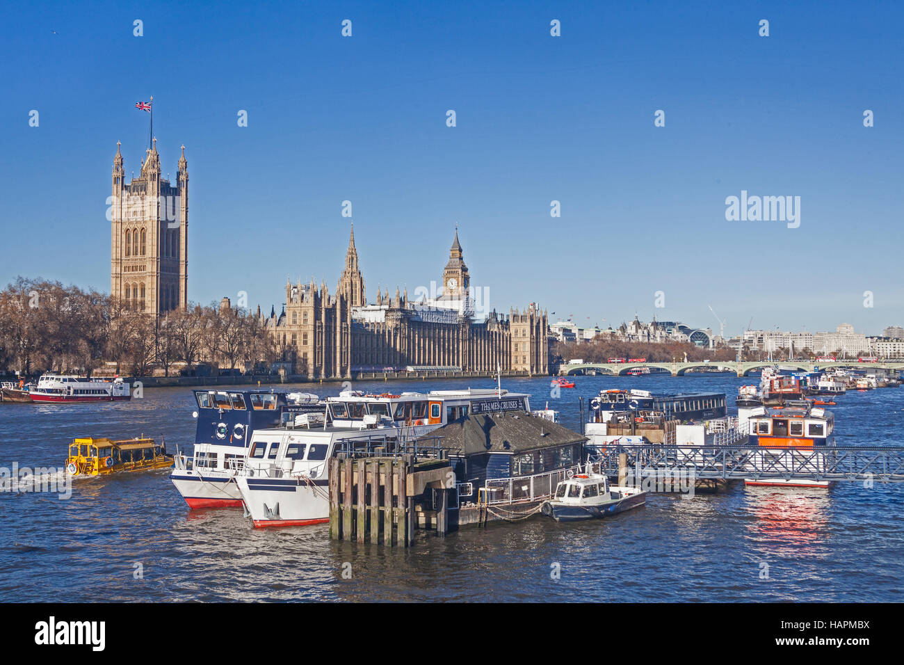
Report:
[[[589,465],[588,465],[589,467]],[[646,492],[636,487],[610,487],[606,476],[589,470],[556,487],[553,499],[542,507],[543,515],[557,522],[575,519],[605,518],[646,503]]]

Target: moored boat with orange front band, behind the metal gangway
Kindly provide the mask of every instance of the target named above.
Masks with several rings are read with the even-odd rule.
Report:
[[[749,444],[761,449],[751,461],[751,470],[761,474],[782,475],[789,470],[804,470],[815,475],[826,467],[826,457],[834,442],[834,417],[806,400],[784,406],[763,407],[750,413]],[[824,452],[823,452],[824,451]],[[769,478],[744,480],[746,485],[771,487],[828,487],[828,480]]]

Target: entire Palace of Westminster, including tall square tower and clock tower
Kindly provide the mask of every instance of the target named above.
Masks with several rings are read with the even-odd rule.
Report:
[[[113,161],[110,295],[160,316],[188,304],[188,163],[182,147],[176,182],[161,178],[156,139],[140,176],[125,183]],[[286,284],[285,309],[262,322],[294,371],[307,379],[350,378],[357,371],[461,369],[549,374],[547,313],[535,305],[508,316],[474,317],[473,290],[456,231],[438,298],[377,293],[368,304],[354,229],[334,295],[326,282]]]

